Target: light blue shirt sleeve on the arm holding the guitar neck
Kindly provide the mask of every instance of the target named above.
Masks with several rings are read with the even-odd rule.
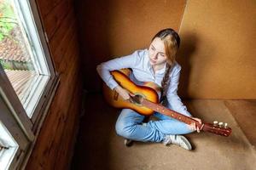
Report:
[[[180,77],[181,66],[177,65],[173,69],[174,70],[171,76],[170,86],[168,88],[167,95],[166,95],[168,100],[168,107],[171,110],[177,111],[185,116],[191,116],[189,111],[187,111],[187,107],[183,105],[183,102],[177,95],[177,85]]]

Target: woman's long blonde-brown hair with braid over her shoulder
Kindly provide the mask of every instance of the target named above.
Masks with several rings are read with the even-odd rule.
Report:
[[[165,44],[166,50],[166,71],[165,76],[161,82],[162,86],[162,96],[161,100],[166,99],[167,89],[170,84],[170,73],[172,71],[173,65],[175,63],[177,48],[179,48],[180,44],[180,37],[178,36],[177,32],[172,30],[172,28],[166,28],[164,30],[159,31],[155,36],[152,38],[159,37]]]

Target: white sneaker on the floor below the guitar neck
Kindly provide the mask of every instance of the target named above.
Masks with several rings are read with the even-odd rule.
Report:
[[[177,144],[185,150],[192,150],[189,140],[182,135],[166,135],[166,139],[164,139],[163,144]]]

